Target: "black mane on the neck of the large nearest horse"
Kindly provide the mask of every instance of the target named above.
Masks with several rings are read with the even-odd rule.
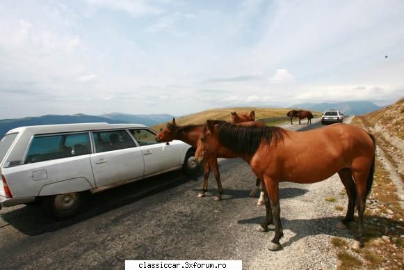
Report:
[[[229,122],[220,120],[210,120],[209,127],[218,125],[219,142],[238,154],[254,154],[262,138],[266,138],[266,143],[269,145],[271,141],[283,141],[284,132],[280,127],[245,127],[234,125]],[[204,132],[206,132],[206,126]]]

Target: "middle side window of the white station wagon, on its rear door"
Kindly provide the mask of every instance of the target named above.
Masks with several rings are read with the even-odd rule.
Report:
[[[136,147],[134,140],[126,130],[92,132],[92,137],[97,153]]]

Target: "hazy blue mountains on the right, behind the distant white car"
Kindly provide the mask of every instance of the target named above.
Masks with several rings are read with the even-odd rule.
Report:
[[[358,101],[358,102],[338,102],[338,103],[300,103],[291,106],[291,108],[309,109],[312,111],[327,111],[329,109],[337,109],[349,116],[360,116],[365,113],[377,111],[382,109],[381,106],[374,104],[373,102]]]

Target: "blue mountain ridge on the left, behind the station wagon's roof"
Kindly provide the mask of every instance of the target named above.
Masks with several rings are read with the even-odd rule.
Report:
[[[73,116],[39,116],[26,117],[17,119],[0,120],[0,138],[10,129],[15,127],[34,126],[34,125],[56,125],[56,124],[73,124],[81,122],[108,122],[110,124],[119,123],[135,123],[143,125],[157,125],[161,122],[172,120],[173,116],[169,114],[125,114],[125,113],[108,113],[102,116],[88,116],[86,114],[75,114]]]

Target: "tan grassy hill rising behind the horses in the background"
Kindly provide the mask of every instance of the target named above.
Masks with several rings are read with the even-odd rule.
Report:
[[[285,118],[287,121],[286,113],[291,109],[268,109],[268,108],[254,108],[254,107],[244,107],[244,108],[226,108],[226,109],[211,109],[207,111],[201,111],[200,113],[193,113],[189,116],[184,116],[181,118],[175,118],[178,125],[189,125],[189,124],[204,124],[207,120],[225,120],[232,121],[231,112],[236,111],[236,113],[247,113],[250,111],[255,111],[255,120],[264,118]],[[321,116],[321,113],[312,111],[315,117]],[[155,130],[160,130],[160,128],[165,127],[165,123],[160,125],[155,125],[152,128]]]

